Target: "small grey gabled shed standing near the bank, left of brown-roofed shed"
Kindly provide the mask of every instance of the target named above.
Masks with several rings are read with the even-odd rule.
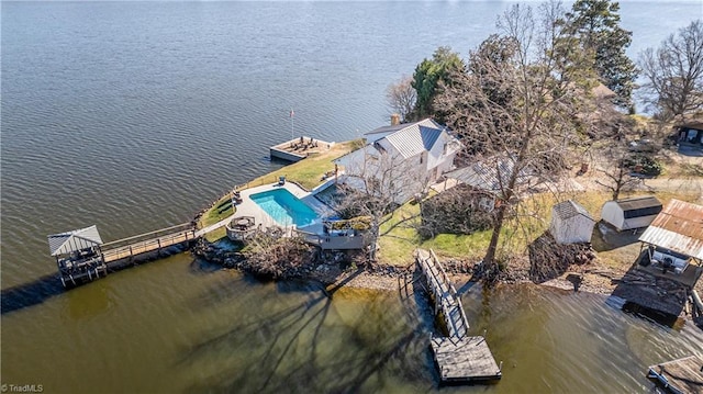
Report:
[[[557,244],[590,243],[595,219],[579,203],[567,200],[551,207],[549,233]]]

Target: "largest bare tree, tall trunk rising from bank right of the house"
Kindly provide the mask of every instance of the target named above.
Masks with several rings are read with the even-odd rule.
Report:
[[[502,155],[511,166],[499,176],[499,204],[484,264],[496,267],[499,240],[510,213],[517,212],[520,179],[559,172],[574,135],[574,116],[589,90],[578,70],[555,58],[562,42],[557,2],[539,8],[513,5],[499,20],[502,34],[489,37],[469,57],[468,72],[454,76],[437,97],[437,108],[458,133],[469,157]],[[520,226],[520,224],[517,224]]]

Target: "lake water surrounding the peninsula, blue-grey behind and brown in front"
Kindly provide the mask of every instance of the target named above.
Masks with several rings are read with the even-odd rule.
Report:
[[[113,240],[189,221],[280,165],[294,134],[388,122],[383,92],[439,45],[464,56],[511,2],[2,2],[3,384],[45,392],[424,392],[417,308],[395,293],[263,284],[176,255],[63,292],[46,235]],[[623,2],[636,54],[701,2]],[[47,277],[48,275],[48,277]],[[645,367],[703,353],[589,294],[471,289],[504,378],[459,392],[647,392]],[[422,305],[422,300],[421,300]]]

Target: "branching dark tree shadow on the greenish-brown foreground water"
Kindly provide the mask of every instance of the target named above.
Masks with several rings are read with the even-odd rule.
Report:
[[[232,353],[232,344],[242,338],[250,338],[246,347],[254,349],[246,356],[246,362],[236,368],[223,360],[223,367],[208,383],[192,384],[187,392],[352,393],[373,384],[369,382],[380,376],[382,370],[401,375],[403,382],[432,386],[432,378],[417,373],[426,370],[427,360],[409,357],[424,354],[420,348],[427,350],[420,335],[424,333],[422,324],[387,327],[401,316],[389,316],[387,305],[376,300],[365,304],[358,316],[345,314],[344,318],[330,319],[331,313],[338,313],[333,297],[339,288],[321,289],[304,302],[236,325],[186,350],[179,364],[194,367],[199,359],[210,359],[221,349],[230,347],[226,352]],[[402,309],[399,315],[406,317]],[[328,348],[331,344],[348,350],[331,354],[334,351]]]

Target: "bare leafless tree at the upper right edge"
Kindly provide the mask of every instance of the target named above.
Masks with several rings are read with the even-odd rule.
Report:
[[[663,120],[703,109],[703,22],[671,34],[656,50],[639,55],[639,67],[647,82],[641,87],[645,101],[657,108]]]

